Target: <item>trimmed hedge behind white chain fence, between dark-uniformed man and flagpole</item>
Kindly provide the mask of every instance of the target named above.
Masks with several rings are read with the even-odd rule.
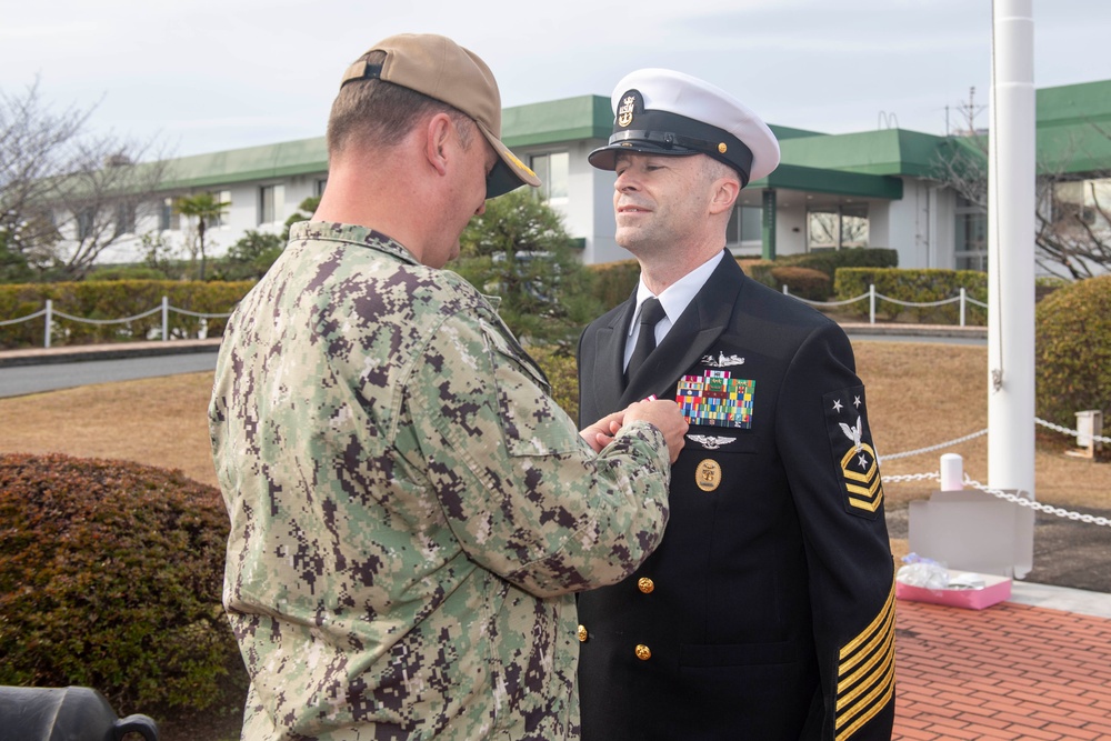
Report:
[[[869,286],[875,286],[877,293],[909,303],[930,303],[951,299],[960,296],[961,288],[965,290],[968,298],[988,302],[987,273],[975,270],[899,268],[839,268],[833,280],[834,299],[837,301],[855,299],[868,293]],[[842,310],[849,314],[868,318],[868,299],[845,304]],[[955,324],[960,321],[960,302],[954,301],[940,307],[904,307],[877,298],[875,316],[891,321],[907,316],[919,322]],[[971,302],[965,303],[965,324],[984,326],[987,321],[987,309]]]

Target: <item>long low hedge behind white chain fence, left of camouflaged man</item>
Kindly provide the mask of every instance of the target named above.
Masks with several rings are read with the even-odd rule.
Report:
[[[72,317],[116,320],[134,317],[161,307],[162,297],[170,306],[197,313],[228,313],[253,286],[250,281],[200,282],[164,280],[82,281],[72,283],[21,283],[0,286],[0,321],[27,317],[53,301],[53,310]],[[0,348],[42,347],[44,318],[0,327]],[[170,312],[173,338],[199,337],[207,324],[208,337],[219,337],[226,320]],[[54,317],[51,344],[90,344],[161,337],[162,314],[122,323],[89,324]]]

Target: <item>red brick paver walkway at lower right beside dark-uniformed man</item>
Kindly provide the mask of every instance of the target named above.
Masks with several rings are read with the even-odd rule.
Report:
[[[900,600],[895,739],[1111,739],[1111,620]]]

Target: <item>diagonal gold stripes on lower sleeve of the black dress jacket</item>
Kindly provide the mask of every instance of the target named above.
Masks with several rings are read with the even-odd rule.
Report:
[[[894,580],[887,602],[869,625],[840,651],[837,740],[849,739],[875,717],[894,693]]]

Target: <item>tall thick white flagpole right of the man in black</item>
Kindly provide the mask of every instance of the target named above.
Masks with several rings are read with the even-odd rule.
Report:
[[[988,484],[1034,497],[1032,0],[992,2],[988,156]]]

